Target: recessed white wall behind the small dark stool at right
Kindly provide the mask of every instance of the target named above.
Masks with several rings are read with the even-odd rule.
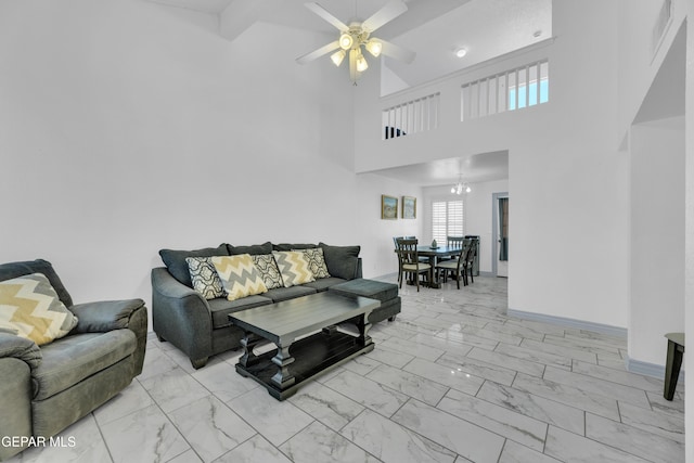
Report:
[[[663,364],[684,326],[684,118],[633,126],[629,358]]]

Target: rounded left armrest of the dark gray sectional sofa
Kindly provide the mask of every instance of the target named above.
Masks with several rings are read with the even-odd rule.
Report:
[[[202,294],[176,280],[164,267],[152,269],[152,324],[195,363],[213,350],[213,316]]]

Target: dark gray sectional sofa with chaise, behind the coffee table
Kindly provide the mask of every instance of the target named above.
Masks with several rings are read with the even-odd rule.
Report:
[[[323,250],[330,276],[291,287],[277,287],[260,295],[236,300],[218,297],[207,300],[191,282],[187,257],[232,256],[240,254],[268,255],[273,250],[293,250],[320,247]],[[331,246],[319,244],[272,244],[253,246],[220,244],[195,250],[162,249],[159,255],[166,267],[152,269],[152,323],[159,340],[174,344],[191,360],[195,369],[207,363],[210,356],[241,347],[243,331],[231,325],[228,316],[239,310],[266,306],[281,300],[339,288],[350,283],[342,294],[361,295],[381,299],[369,321],[393,320],[400,312],[397,285],[362,280],[359,246]],[[362,285],[361,282],[363,282]],[[374,286],[375,284],[375,286]],[[395,286],[395,288],[394,288]],[[364,293],[364,291],[367,293]]]

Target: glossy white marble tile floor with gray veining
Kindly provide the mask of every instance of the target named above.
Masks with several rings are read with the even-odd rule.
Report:
[[[684,389],[626,371],[626,339],[506,317],[506,280],[401,290],[376,348],[279,402],[151,335],[144,372],[14,462],[681,462]],[[665,351],[664,351],[665,355]],[[68,440],[72,439],[72,440]]]

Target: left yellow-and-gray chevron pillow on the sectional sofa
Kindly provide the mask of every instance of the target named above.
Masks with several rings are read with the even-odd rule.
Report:
[[[217,274],[227,291],[227,299],[236,300],[254,294],[267,293],[262,275],[249,254],[211,257]]]

